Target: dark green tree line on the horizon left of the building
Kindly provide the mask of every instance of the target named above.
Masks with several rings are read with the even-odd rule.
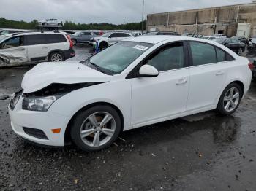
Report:
[[[0,28],[18,28],[18,29],[35,29],[38,21],[32,20],[31,22],[8,20],[0,18]],[[81,24],[72,21],[66,21],[63,29],[67,30],[141,30],[140,23],[126,23],[125,25],[114,25],[110,23],[89,23]],[[143,22],[143,29],[146,30],[146,20]]]

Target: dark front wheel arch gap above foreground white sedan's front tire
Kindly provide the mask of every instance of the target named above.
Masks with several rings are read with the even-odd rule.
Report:
[[[69,144],[71,142],[71,137],[70,137],[70,130],[72,128],[72,122],[75,120],[75,117],[82,111],[85,111],[86,109],[89,109],[93,106],[110,106],[113,109],[116,109],[116,112],[118,112],[119,117],[121,119],[121,132],[124,130],[124,115],[121,112],[121,109],[118,108],[118,106],[115,106],[114,104],[110,104],[108,102],[105,101],[100,101],[100,102],[95,102],[92,104],[89,104],[87,106],[83,106],[81,109],[78,110],[78,112],[75,112],[75,114],[71,117],[71,119],[69,120],[68,124],[67,124],[67,128],[65,130],[64,133],[64,144]]]

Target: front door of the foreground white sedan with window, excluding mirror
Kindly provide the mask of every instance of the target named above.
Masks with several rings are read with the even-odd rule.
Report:
[[[189,69],[183,42],[168,44],[146,58],[158,77],[132,79],[132,125],[134,128],[166,120],[186,111]]]

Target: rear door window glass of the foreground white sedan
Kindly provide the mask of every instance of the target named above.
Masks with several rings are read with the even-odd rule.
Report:
[[[200,42],[190,42],[192,61],[194,66],[207,63],[217,63],[215,47]]]

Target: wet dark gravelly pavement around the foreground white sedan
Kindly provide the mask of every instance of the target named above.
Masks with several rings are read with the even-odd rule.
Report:
[[[76,47],[77,57],[91,54]],[[0,96],[29,67],[0,69]],[[43,148],[12,132],[0,101],[0,190],[256,190],[256,82],[232,116],[206,112],[121,133],[110,148]]]

